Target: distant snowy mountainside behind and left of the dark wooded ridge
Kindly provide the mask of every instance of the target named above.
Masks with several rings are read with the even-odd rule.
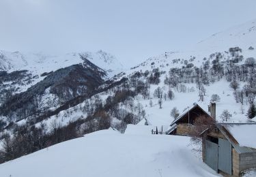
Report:
[[[103,80],[111,78],[124,69],[123,65],[112,54],[102,50],[98,52],[74,52],[58,56],[0,50],[0,106],[6,99],[6,92],[10,92],[12,95],[25,92],[31,86],[44,80],[48,74],[72,65],[83,63],[83,67],[92,69],[87,61],[99,67],[99,73],[102,72],[102,69],[106,72],[102,76]],[[96,71],[94,75],[97,74]],[[49,96],[51,95],[45,97]]]

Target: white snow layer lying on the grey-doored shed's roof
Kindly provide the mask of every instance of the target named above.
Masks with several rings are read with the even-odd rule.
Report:
[[[256,124],[229,124],[225,128],[240,146],[256,148]]]

